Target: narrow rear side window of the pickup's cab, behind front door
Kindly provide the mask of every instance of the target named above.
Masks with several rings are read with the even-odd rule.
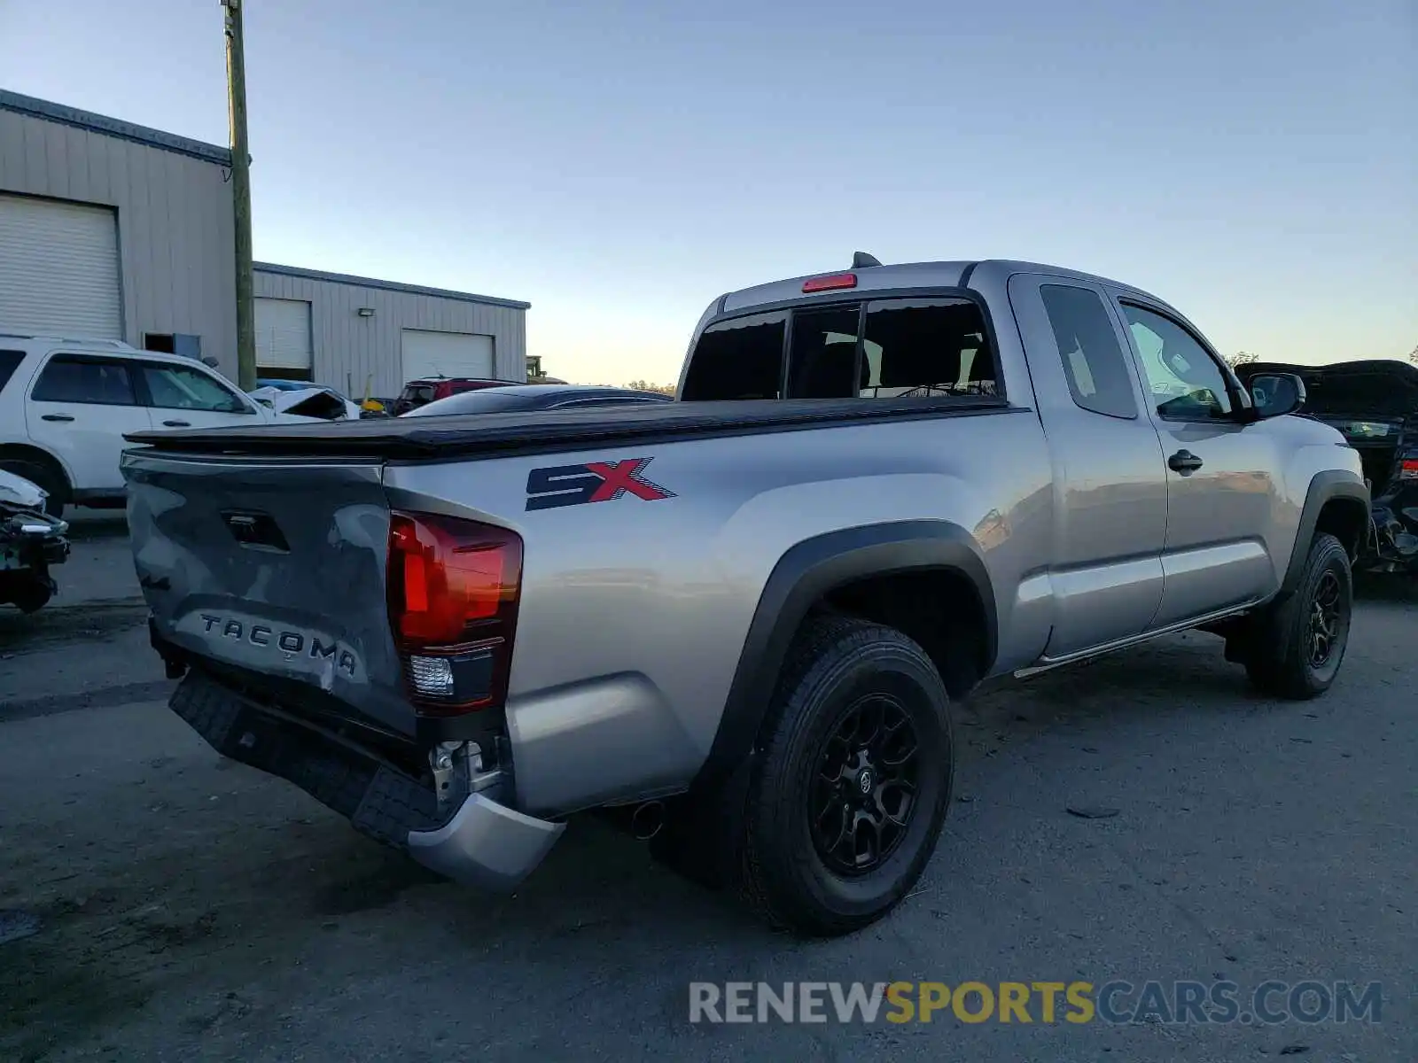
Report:
[[[1106,417],[1136,418],[1133,370],[1102,298],[1073,285],[1039,285],[1073,403]]]

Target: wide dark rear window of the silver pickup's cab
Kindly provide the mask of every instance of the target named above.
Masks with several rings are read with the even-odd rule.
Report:
[[[787,373],[784,374],[784,364]],[[753,315],[705,329],[686,401],[1000,394],[984,313],[970,299],[878,299]]]

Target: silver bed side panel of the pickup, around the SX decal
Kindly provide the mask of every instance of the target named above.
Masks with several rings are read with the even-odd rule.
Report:
[[[642,475],[672,496],[526,510],[535,469],[631,458],[648,458]],[[529,811],[682,788],[713,743],[764,584],[804,539],[951,522],[986,560],[1010,652],[1032,659],[1048,636],[1046,602],[1015,600],[1049,534],[1049,462],[1031,410],[394,465],[384,483],[394,507],[523,539],[508,721]]]

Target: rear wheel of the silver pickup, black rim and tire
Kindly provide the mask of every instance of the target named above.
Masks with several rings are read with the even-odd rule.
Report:
[[[865,927],[910,892],[950,808],[950,697],[893,628],[814,617],[778,679],[749,784],[742,893],[804,935]]]

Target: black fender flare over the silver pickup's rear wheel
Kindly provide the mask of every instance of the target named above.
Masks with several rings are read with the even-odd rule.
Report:
[[[994,587],[980,547],[966,529],[947,520],[905,520],[805,539],[778,558],[759,595],[713,746],[693,788],[722,784],[747,763],[793,636],[824,594],[864,578],[913,570],[950,570],[970,581],[986,618],[988,669],[998,641]]]

